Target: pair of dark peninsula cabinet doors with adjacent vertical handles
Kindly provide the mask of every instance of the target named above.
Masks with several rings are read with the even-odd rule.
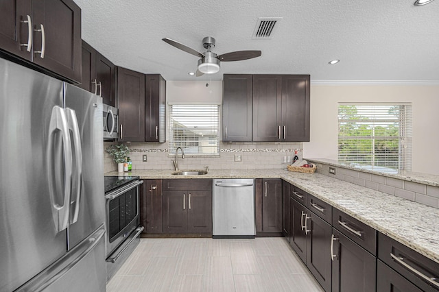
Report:
[[[325,291],[331,291],[332,227],[292,197],[289,244]]]

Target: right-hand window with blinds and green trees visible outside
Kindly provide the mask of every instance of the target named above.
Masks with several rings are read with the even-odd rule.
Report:
[[[412,169],[410,104],[339,104],[338,160],[364,169]]]

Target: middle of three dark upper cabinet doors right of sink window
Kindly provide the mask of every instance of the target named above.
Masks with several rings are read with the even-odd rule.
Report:
[[[281,101],[281,75],[253,75],[253,141],[281,141]]]

